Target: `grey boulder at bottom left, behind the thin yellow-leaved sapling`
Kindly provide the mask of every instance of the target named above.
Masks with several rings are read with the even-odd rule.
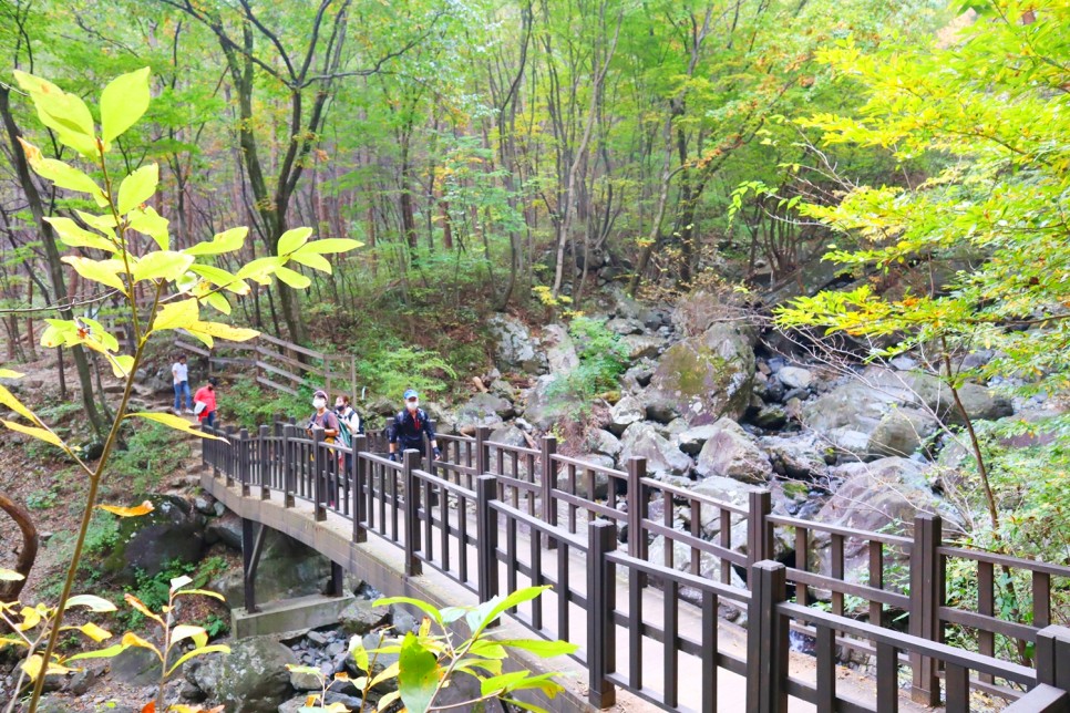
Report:
[[[240,639],[227,655],[192,659],[186,679],[233,713],[277,710],[294,695],[287,664],[300,663],[287,647],[270,637]]]

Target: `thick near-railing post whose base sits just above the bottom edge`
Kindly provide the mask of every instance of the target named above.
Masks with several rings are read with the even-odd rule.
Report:
[[[608,679],[617,669],[614,623],[617,578],[616,567],[607,560],[616,549],[616,523],[596,520],[587,525],[587,596],[590,601],[587,607],[587,701],[599,710],[617,702],[617,689]],[[636,627],[640,623],[631,622]]]

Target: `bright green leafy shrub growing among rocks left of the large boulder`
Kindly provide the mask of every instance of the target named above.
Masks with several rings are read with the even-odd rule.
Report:
[[[557,374],[548,394],[552,401],[578,403],[580,411],[586,411],[595,396],[617,389],[617,380],[628,369],[628,352],[605,321],[576,317],[568,324],[568,333],[576,343],[579,364]]]

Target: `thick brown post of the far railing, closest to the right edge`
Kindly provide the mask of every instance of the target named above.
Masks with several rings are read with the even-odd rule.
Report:
[[[914,545],[910,548],[910,621],[909,633],[927,641],[942,639],[939,607],[943,602],[944,577],[942,557],[937,552],[943,539],[939,515],[924,513],[914,518]],[[939,705],[940,680],[935,659],[910,654],[913,681],[910,698],[923,705]]]

